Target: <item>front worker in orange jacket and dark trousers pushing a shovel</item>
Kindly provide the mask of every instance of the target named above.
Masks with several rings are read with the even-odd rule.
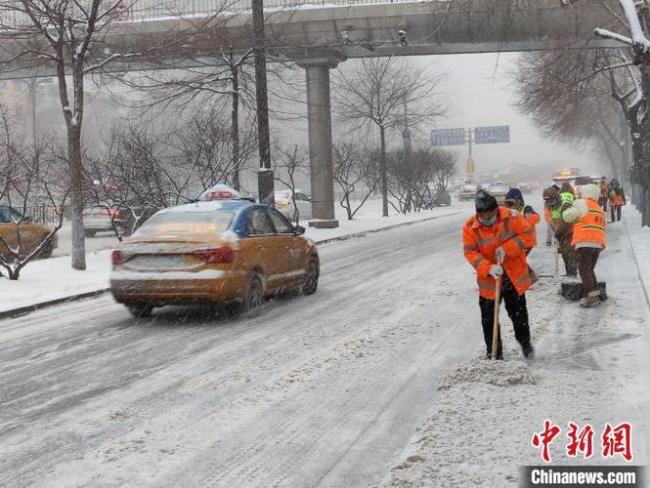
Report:
[[[525,357],[532,357],[526,290],[530,288],[526,249],[533,245],[533,228],[516,210],[499,207],[496,198],[485,190],[476,194],[476,214],[463,226],[465,259],[476,270],[481,324],[491,357],[496,278],[502,276],[501,298],[512,320],[515,337]],[[502,264],[499,264],[502,263]],[[497,357],[503,359],[499,337]]]

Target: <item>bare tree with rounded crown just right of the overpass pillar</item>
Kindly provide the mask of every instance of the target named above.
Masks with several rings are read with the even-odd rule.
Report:
[[[335,111],[353,128],[371,125],[379,134],[379,177],[382,215],[388,216],[387,132],[417,127],[444,113],[435,90],[443,76],[431,74],[394,58],[363,59],[352,67],[340,67],[334,80]],[[411,110],[404,113],[404,104]]]

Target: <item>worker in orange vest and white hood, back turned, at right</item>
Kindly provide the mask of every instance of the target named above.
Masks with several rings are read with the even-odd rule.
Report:
[[[582,198],[566,209],[562,218],[573,223],[573,240],[578,270],[582,281],[582,307],[600,305],[600,290],[594,269],[598,256],[607,245],[607,214],[598,203],[600,188],[597,185],[581,187]]]

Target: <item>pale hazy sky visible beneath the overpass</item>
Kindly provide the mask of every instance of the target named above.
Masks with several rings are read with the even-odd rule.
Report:
[[[446,56],[410,57],[409,61],[427,67],[432,72],[447,74],[439,93],[448,106],[448,116],[441,118],[428,129],[422,128],[420,140],[429,140],[430,130],[439,128],[476,127],[489,125],[509,125],[509,144],[474,145],[476,171],[498,171],[505,166],[518,164],[547,168],[543,174],[550,179],[553,171],[566,167],[580,167],[584,174],[600,174],[602,165],[594,160],[589,148],[572,147],[543,137],[533,122],[514,106],[514,88],[511,73],[518,54],[465,54]],[[345,62],[345,65],[354,63]],[[335,73],[332,74],[334,76]],[[299,85],[304,84],[300,81]],[[304,99],[304,89],[302,98]],[[286,104],[286,100],[277,104]],[[292,105],[291,103],[289,103]],[[286,105],[283,105],[286,107]],[[306,113],[302,103],[295,105],[296,113]],[[333,118],[334,142],[349,138],[349,131]],[[271,121],[272,128],[282,133],[286,142],[307,144],[306,120],[294,124],[277,124]],[[398,137],[397,139],[395,137]],[[356,136],[362,137],[361,135]],[[400,143],[399,136],[393,134],[391,142]],[[467,147],[448,147],[459,154],[459,171],[464,171]],[[541,175],[540,175],[541,176]]]

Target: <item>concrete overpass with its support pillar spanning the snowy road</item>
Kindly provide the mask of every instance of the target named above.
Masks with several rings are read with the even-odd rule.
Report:
[[[111,62],[110,70],[177,69],[205,66],[224,49],[251,48],[249,0],[153,1],[137,3],[113,23],[97,44],[93,62],[122,53],[128,57]],[[341,61],[618,47],[593,35],[596,27],[617,28],[606,6],[596,2],[562,7],[559,0],[325,1],[265,2],[269,54],[306,70],[313,214],[323,221],[334,218],[329,70]],[[616,9],[616,1],[611,3]],[[7,40],[3,49],[0,60],[15,55],[21,45]],[[52,74],[40,59],[24,59],[0,78]]]

